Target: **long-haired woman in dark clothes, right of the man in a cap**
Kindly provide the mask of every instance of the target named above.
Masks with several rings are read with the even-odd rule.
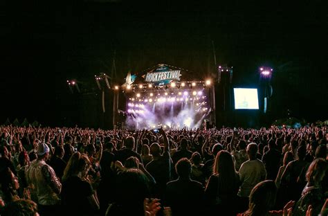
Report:
[[[60,194],[64,215],[95,215],[99,210],[99,201],[87,178],[91,163],[88,157],[75,152],[67,163],[62,177]]]

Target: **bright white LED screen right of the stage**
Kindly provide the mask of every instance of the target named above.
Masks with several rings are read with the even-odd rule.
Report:
[[[257,89],[234,88],[235,109],[259,109]]]

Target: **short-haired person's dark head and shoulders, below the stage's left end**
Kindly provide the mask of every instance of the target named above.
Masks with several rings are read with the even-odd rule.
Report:
[[[133,136],[127,136],[124,141],[125,148],[118,150],[115,152],[116,161],[120,161],[121,163],[125,163],[125,161],[130,156],[135,156],[141,163],[143,159],[141,159],[140,154],[134,151],[135,148],[135,139]]]

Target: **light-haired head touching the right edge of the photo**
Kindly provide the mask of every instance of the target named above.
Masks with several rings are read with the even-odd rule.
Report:
[[[316,159],[312,161],[307,169],[307,181],[309,183],[317,184],[322,181],[327,170],[327,162],[324,159]]]

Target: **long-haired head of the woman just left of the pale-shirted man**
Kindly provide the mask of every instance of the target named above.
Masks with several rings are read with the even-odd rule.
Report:
[[[221,150],[215,157],[213,165],[213,173],[220,174],[224,177],[235,177],[235,164],[233,163],[233,156],[225,150]]]

